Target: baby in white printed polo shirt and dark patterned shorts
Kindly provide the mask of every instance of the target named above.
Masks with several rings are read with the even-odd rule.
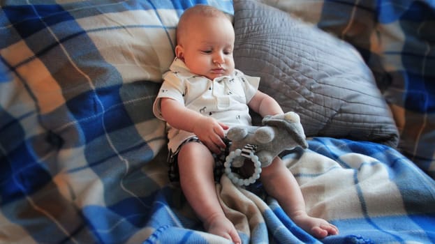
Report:
[[[154,102],[154,114],[168,123],[170,176],[205,229],[241,243],[216,195],[218,155],[226,148],[226,130],[250,125],[249,109],[261,116],[283,114],[279,104],[258,91],[258,77],[235,70],[235,33],[230,19],[212,6],[187,9],[177,26],[176,58]],[[260,181],[288,216],[316,238],[338,234],[334,225],[307,215],[302,192],[282,160],[264,167]]]

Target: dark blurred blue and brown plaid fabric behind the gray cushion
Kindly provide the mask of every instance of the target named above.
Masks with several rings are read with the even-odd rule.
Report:
[[[399,150],[435,178],[435,2],[262,1],[357,47],[392,109]]]

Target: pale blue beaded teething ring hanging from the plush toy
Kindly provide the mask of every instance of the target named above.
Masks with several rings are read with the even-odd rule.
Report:
[[[237,174],[234,174],[233,171],[231,170],[231,165],[233,165],[234,158],[240,155],[242,155],[242,150],[240,150],[239,148],[237,148],[235,151],[231,151],[226,157],[223,167],[225,167],[225,173],[228,176],[228,178],[230,178],[230,180],[233,181],[233,183],[240,186],[250,185],[256,182],[258,178],[260,178],[261,162],[260,160],[258,160],[258,156],[253,154],[253,152],[251,151],[251,153],[249,153],[249,156],[246,156],[246,158],[250,158],[251,161],[253,162],[253,166],[255,167],[253,174],[249,178],[244,178],[244,179],[239,178],[239,176],[237,176]]]

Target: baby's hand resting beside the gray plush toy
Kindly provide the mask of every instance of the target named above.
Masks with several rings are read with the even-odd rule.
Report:
[[[203,117],[196,121],[196,125],[193,125],[193,133],[210,151],[216,154],[221,153],[221,148],[226,147],[222,138],[225,137],[223,131],[227,129],[228,125],[210,117]]]

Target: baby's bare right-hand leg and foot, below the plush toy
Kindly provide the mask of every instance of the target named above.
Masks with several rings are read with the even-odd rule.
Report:
[[[326,220],[307,215],[299,184],[281,158],[275,158],[269,167],[263,168],[260,179],[267,193],[277,199],[283,210],[297,226],[316,238],[324,238],[339,233],[337,227]]]

